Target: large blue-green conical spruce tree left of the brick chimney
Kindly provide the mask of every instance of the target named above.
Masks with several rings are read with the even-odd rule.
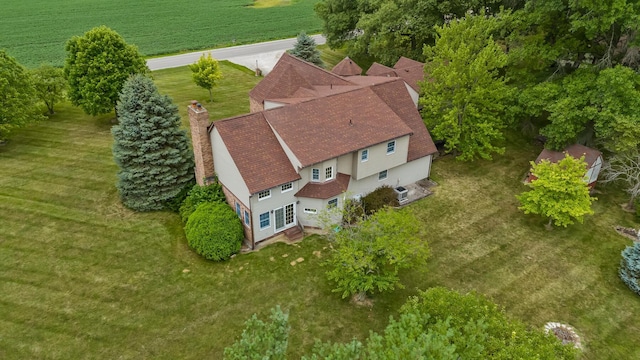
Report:
[[[137,211],[161,210],[193,178],[178,108],[137,74],[125,82],[117,109],[120,123],[111,133],[122,203]]]

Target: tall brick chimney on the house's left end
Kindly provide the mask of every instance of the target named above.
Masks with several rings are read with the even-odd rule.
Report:
[[[191,142],[198,185],[209,184],[214,179],[213,151],[209,138],[209,112],[193,100],[188,107]]]

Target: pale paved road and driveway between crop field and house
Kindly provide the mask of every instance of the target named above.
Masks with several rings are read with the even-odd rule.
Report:
[[[312,35],[311,37],[318,45],[326,43],[326,39],[322,35]],[[255,68],[255,62],[258,61],[258,66],[266,73],[271,70],[280,55],[284,51],[291,49],[295,43],[296,38],[291,38],[228,48],[201,50],[188,54],[149,59],[147,60],[147,65],[151,70],[180,67],[193,64],[202,54],[211,53],[211,56],[218,60],[229,60],[247,66],[250,69]]]

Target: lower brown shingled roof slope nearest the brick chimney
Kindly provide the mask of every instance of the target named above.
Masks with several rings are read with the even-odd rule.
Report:
[[[238,167],[249,193],[300,179],[262,112],[212,124]]]

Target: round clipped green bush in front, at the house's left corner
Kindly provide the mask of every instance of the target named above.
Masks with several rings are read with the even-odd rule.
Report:
[[[189,246],[208,260],[223,261],[240,251],[244,232],[226,203],[202,203],[184,227]]]

